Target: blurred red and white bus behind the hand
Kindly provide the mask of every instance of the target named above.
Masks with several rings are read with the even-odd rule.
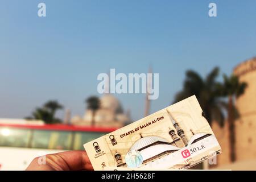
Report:
[[[24,170],[37,156],[84,150],[83,144],[117,128],[0,123],[0,170]]]

